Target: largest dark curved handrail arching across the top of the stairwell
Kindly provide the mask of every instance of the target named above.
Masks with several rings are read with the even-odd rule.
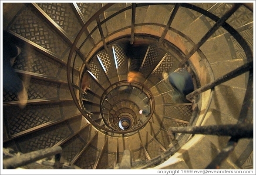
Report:
[[[136,7],[143,7],[143,6],[148,6],[148,5],[159,5],[159,4],[172,4],[172,5],[174,5],[175,3],[137,3],[137,4],[133,4],[133,5],[130,6],[130,7],[126,7],[125,10],[129,10],[129,9],[131,9],[131,8],[133,8],[133,10],[135,10]],[[70,54],[69,54],[69,57],[68,57],[68,63],[67,63],[67,65],[68,65],[68,66],[67,66],[67,79],[68,79],[68,84],[69,84],[69,87],[70,87],[70,90],[71,90],[71,95],[72,95],[72,97],[73,97],[73,99],[74,99],[74,101],[75,101],[75,103],[76,103],[78,109],[81,111],[82,114],[85,114],[84,116],[86,116],[86,112],[84,112],[83,109],[81,109],[81,107],[79,107],[80,105],[79,105],[79,103],[78,103],[78,101],[77,101],[77,99],[76,99],[75,92],[73,91],[73,88],[72,88],[72,86],[71,86],[71,75],[70,75],[71,68],[70,68],[69,65],[71,65],[72,56],[73,56],[73,54],[74,54],[74,52],[75,52],[75,48],[76,48],[77,42],[78,42],[78,40],[80,39],[82,33],[84,33],[84,31],[87,29],[87,27],[89,26],[89,24],[90,24],[93,20],[97,20],[98,17],[99,17],[99,15],[100,15],[101,13],[103,13],[105,10],[107,10],[108,8],[110,8],[112,5],[113,5],[112,3],[111,3],[111,4],[107,4],[106,6],[104,6],[103,8],[101,8],[101,10],[99,10],[98,12],[96,12],[96,13],[88,20],[87,23],[85,23],[85,25],[82,27],[82,29],[81,29],[80,32],[78,33],[77,38],[74,40],[74,43],[73,43],[73,45],[72,45],[72,47],[71,47],[71,51],[70,51]],[[234,12],[237,10],[237,8],[238,8],[240,5],[241,5],[241,4],[235,5],[235,9],[233,9]],[[243,4],[243,5],[245,5],[245,7],[247,7],[246,4]],[[197,12],[199,12],[199,13],[205,15],[206,17],[209,17],[211,20],[213,20],[213,21],[215,21],[215,22],[218,22],[218,21],[220,20],[220,18],[217,17],[216,15],[214,15],[214,14],[212,14],[212,13],[206,11],[206,10],[203,10],[203,9],[201,9],[201,8],[199,8],[199,7],[193,6],[193,5],[189,4],[189,3],[181,3],[180,6],[181,6],[181,7],[185,7],[185,8],[189,8],[189,9],[192,9],[192,10],[195,10],[195,11],[197,11]],[[124,9],[119,10],[118,12],[112,14],[110,17],[106,18],[105,20],[103,20],[103,21],[101,21],[101,22],[100,22],[100,21],[97,21],[98,26],[99,26],[99,25],[102,25],[103,23],[106,23],[106,22],[107,22],[108,20],[110,20],[112,17],[115,17],[116,15],[118,15],[119,13],[121,13],[121,12],[123,12],[123,11],[125,11],[125,10],[124,10]],[[250,9],[250,10],[251,10],[251,9]],[[232,13],[233,13],[233,12],[232,12]],[[135,14],[135,12],[133,13],[133,15],[134,15],[134,14]],[[218,23],[219,26],[218,26],[217,28],[219,28],[220,26],[222,26],[224,29],[226,29],[226,30],[237,40],[237,42],[240,44],[240,46],[243,48],[243,50],[244,50],[244,52],[245,52],[245,54],[246,54],[247,61],[250,62],[250,63],[252,63],[251,61],[253,61],[253,54],[252,54],[252,51],[251,51],[251,49],[250,49],[248,43],[246,43],[246,41],[243,39],[243,37],[242,37],[232,26],[230,26],[228,23],[226,23],[226,20],[227,20],[228,18],[229,18],[229,17],[227,17],[227,18],[225,18],[225,19],[222,18],[221,20],[224,20],[224,21],[219,22],[219,23]],[[147,24],[148,24],[148,23],[147,23]],[[145,23],[141,23],[141,24],[135,24],[134,26],[139,26],[139,25],[142,26],[142,25],[146,25],[146,24],[145,24]],[[160,25],[161,25],[161,24],[160,24]],[[86,43],[86,40],[88,40],[88,38],[91,37],[92,33],[93,33],[94,31],[96,31],[96,29],[98,28],[98,26],[96,26],[96,27],[94,28],[94,30],[92,30],[92,32],[91,32],[91,33],[88,35],[88,37],[84,40],[84,42],[83,42],[82,45],[79,47],[79,49]],[[131,28],[131,31],[132,31],[132,28],[133,28],[134,26],[133,26],[133,23],[132,23],[131,26],[127,26],[127,27],[125,27],[125,28]],[[217,25],[216,25],[216,26],[217,26]],[[170,30],[170,29],[171,29],[171,27],[169,27],[169,30]],[[120,30],[121,30],[121,29],[120,29]],[[120,31],[120,30],[119,30],[119,31]],[[212,31],[213,31],[213,30],[212,30]],[[211,36],[211,35],[213,34],[212,31],[209,32],[209,36]],[[113,34],[113,33],[111,33],[111,34]],[[108,36],[111,36],[111,34],[108,34]],[[132,32],[131,32],[131,34],[132,34]],[[103,33],[101,32],[101,38],[102,38],[102,39],[104,38],[104,40],[105,40],[106,38],[108,38],[108,36],[103,36]],[[208,36],[207,36],[207,37],[208,37]],[[205,39],[206,39],[207,37],[205,36]],[[200,47],[203,43],[205,43],[205,41],[207,40],[207,39],[206,39],[206,40],[205,40],[205,39],[202,40],[202,43],[201,43],[200,45],[194,47],[194,51],[195,51],[195,52],[199,50],[199,47]],[[98,43],[102,42],[103,45],[105,46],[104,40],[99,41]],[[131,39],[131,40],[132,40],[132,39]],[[91,51],[92,51],[92,50],[94,50],[94,48],[92,48]],[[194,51],[193,51],[193,52],[194,52]],[[191,51],[191,53],[192,53],[192,51]],[[89,60],[89,59],[90,59],[90,58],[88,57],[88,56],[90,56],[90,55],[91,55],[91,53],[88,53],[88,55],[87,55],[87,56],[85,57],[85,59],[83,60],[84,63],[87,63],[86,60]],[[187,57],[189,58],[190,56],[187,56]],[[82,66],[82,67],[83,67],[83,66]],[[243,72],[243,73],[244,73],[244,72]],[[236,76],[239,76],[239,75],[236,75]],[[234,77],[236,77],[236,76],[234,76]],[[234,78],[234,77],[232,77],[232,78]],[[224,82],[226,82],[226,81],[228,81],[228,80],[225,80]],[[253,81],[253,80],[251,80],[251,81]],[[222,82],[222,83],[224,83],[224,82]],[[72,74],[72,83],[74,83],[74,82],[73,82],[73,74]],[[249,82],[248,82],[248,83],[249,83]],[[216,85],[216,86],[217,86],[217,85]],[[213,86],[213,87],[215,87],[215,86]],[[203,87],[202,87],[202,88],[203,88]],[[200,93],[202,93],[202,92],[200,92]],[[244,110],[246,110],[246,109],[244,109]],[[87,115],[88,115],[88,114],[87,114]],[[93,121],[91,121],[90,118],[88,118],[88,120],[89,120],[89,122],[93,122]],[[99,127],[98,129],[101,130],[102,128]],[[167,151],[168,151],[168,150],[167,150]]]

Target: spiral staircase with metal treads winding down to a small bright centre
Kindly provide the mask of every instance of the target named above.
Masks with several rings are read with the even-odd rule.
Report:
[[[249,3],[3,3],[3,30],[22,50],[13,68],[28,92],[20,109],[3,90],[13,155],[61,146],[71,169],[118,169],[127,158],[133,169],[204,169],[232,137],[170,127],[253,123]],[[185,69],[199,92],[176,102],[162,72]],[[253,138],[219,163],[253,169]],[[33,168],[52,168],[43,166]]]

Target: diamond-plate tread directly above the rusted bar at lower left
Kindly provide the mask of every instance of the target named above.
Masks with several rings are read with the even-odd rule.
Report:
[[[20,152],[27,153],[52,147],[72,132],[69,123],[63,122],[15,139],[15,143]]]

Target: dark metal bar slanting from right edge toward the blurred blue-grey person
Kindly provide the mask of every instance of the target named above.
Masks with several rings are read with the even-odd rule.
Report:
[[[235,78],[236,76],[239,76],[243,73],[246,73],[247,71],[253,69],[253,61],[244,64],[243,66],[240,66],[231,72],[227,73],[226,75],[219,77],[218,79],[214,80],[211,83],[206,84],[205,86],[200,87],[199,89],[196,89],[195,91],[191,92],[186,96],[186,99],[191,99],[194,96],[197,96],[198,94],[205,92],[209,89],[214,88],[215,86],[220,85],[221,83],[224,83],[226,81],[229,81],[232,78]]]

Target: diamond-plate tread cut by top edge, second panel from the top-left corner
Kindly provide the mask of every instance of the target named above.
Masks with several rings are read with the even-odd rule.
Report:
[[[70,38],[82,28],[70,3],[36,3]]]

